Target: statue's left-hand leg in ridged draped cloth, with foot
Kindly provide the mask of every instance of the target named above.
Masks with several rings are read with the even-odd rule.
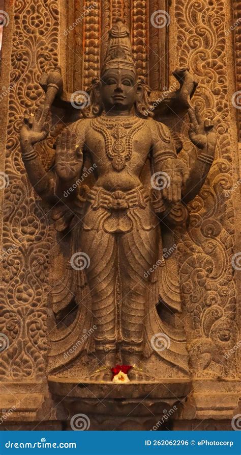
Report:
[[[92,295],[93,325],[96,325],[95,355],[100,366],[115,364],[116,356],[116,305],[115,286],[117,274],[116,245],[113,235],[102,231],[82,231],[80,245],[90,264],[86,275]],[[107,374],[110,377],[110,372]],[[107,380],[101,370],[93,379]]]

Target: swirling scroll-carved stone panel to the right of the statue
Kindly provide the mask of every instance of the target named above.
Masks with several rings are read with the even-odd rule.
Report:
[[[195,103],[204,118],[216,120],[218,132],[216,160],[201,194],[189,207],[190,226],[180,245],[180,281],[194,376],[234,378],[237,353],[230,354],[230,349],[238,341],[238,319],[232,188],[237,145],[231,147],[226,14],[224,2],[178,2],[175,10],[176,60],[197,75]],[[187,128],[184,123],[185,135]]]

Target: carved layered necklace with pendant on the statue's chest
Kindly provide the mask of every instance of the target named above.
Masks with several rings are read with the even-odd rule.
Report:
[[[113,119],[103,116],[91,121],[92,128],[104,137],[106,155],[114,170],[121,171],[131,159],[133,137],[145,124],[145,120],[138,117]]]

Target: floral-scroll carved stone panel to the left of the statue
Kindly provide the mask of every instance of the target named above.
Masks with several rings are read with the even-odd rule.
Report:
[[[1,408],[15,403],[17,411],[26,410],[36,419],[43,399],[40,384],[46,382],[51,230],[47,208],[24,171],[19,131],[25,110],[43,96],[41,73],[58,62],[59,3],[16,0],[6,2],[5,9],[10,23],[4,30],[2,65],[8,95],[2,100],[1,119],[0,401]]]

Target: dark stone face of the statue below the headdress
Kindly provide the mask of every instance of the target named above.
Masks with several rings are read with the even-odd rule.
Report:
[[[101,80],[100,95],[106,113],[131,111],[137,97],[135,73],[118,68],[106,71]]]

